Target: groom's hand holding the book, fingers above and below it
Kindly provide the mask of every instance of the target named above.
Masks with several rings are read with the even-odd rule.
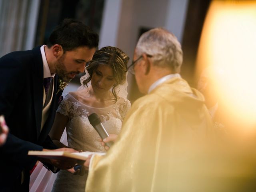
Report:
[[[59,149],[54,149],[54,150],[48,150],[48,149],[43,149],[43,151],[66,151],[66,152],[78,152],[72,148],[59,148]],[[75,159],[68,159],[68,160],[57,160],[57,159],[44,159],[44,158],[40,158],[40,161],[42,161],[42,163],[46,162],[49,164],[52,164],[54,167],[60,168],[60,169],[70,169],[72,167],[74,167],[77,163],[77,160]]]

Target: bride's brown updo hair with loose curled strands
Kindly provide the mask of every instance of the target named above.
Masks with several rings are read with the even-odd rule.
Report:
[[[87,86],[88,82],[90,82],[93,72],[99,65],[107,65],[113,70],[113,77],[116,83],[113,86],[112,94],[115,100],[117,100],[116,91],[118,90],[116,90],[116,86],[126,82],[127,63],[129,59],[128,55],[117,47],[107,46],[97,50],[92,60],[86,64],[88,65],[86,70],[89,76],[83,81],[84,86]]]

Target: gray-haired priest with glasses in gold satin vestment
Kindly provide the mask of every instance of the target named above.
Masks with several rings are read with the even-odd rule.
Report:
[[[182,191],[184,182],[191,182],[184,175],[197,171],[190,158],[213,129],[204,97],[179,74],[182,55],[180,43],[167,30],[142,34],[129,71],[146,95],[132,105],[106,156],[86,161],[87,192]]]

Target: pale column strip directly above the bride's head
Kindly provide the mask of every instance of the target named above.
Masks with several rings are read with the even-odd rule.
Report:
[[[122,0],[106,0],[102,15],[99,48],[116,46]]]

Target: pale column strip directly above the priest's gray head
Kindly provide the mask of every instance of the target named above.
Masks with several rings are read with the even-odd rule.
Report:
[[[171,31],[182,43],[189,0],[169,0],[165,28]]]

